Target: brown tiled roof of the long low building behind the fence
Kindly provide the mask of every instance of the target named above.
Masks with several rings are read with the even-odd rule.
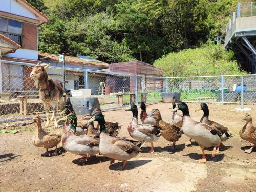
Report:
[[[43,57],[50,57],[53,56],[54,54],[51,53],[38,53],[39,58]],[[54,56],[42,60],[47,60],[47,61],[59,61],[59,56]],[[78,65],[84,65],[84,66],[96,66],[96,67],[102,67],[102,68],[108,68],[109,64],[101,61],[90,61],[86,59],[81,59],[79,57],[71,57],[71,56],[66,56],[65,55],[65,62],[67,63],[74,63]]]

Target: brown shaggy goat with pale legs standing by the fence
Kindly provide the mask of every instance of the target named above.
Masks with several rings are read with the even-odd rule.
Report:
[[[35,87],[39,87],[39,98],[42,101],[42,104],[46,110],[47,122],[45,127],[48,127],[50,124],[49,121],[49,112],[50,106],[53,108],[53,115],[51,121],[54,119],[54,128],[58,127],[57,123],[57,109],[58,106],[62,108],[63,105],[63,84],[59,80],[52,80],[48,78],[46,69],[50,66],[49,64],[39,64],[37,63],[34,67],[28,66],[32,70],[30,73],[31,79],[35,81]]]

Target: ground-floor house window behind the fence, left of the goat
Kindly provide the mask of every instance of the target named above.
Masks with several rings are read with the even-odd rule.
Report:
[[[3,90],[23,89],[23,66],[2,64]]]

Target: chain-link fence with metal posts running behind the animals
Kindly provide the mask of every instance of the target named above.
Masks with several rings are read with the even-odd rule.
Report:
[[[29,63],[0,62],[0,117],[45,113],[38,88],[30,78]],[[162,101],[162,92],[180,92],[185,102],[256,104],[256,75],[207,77],[154,77],[78,68],[49,67],[49,78],[64,81],[66,98],[72,90],[90,89],[102,109],[141,101]],[[65,78],[64,78],[65,77]],[[241,86],[242,85],[242,86]],[[89,94],[90,95],[90,94]]]

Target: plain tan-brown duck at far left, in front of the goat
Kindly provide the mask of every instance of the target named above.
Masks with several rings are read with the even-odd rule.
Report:
[[[55,147],[55,155],[58,155],[57,147],[61,141],[61,134],[45,131],[41,125],[40,115],[36,115],[32,122],[36,123],[37,127],[32,136],[32,143],[37,147],[46,148],[46,153],[49,154],[48,149]]]

